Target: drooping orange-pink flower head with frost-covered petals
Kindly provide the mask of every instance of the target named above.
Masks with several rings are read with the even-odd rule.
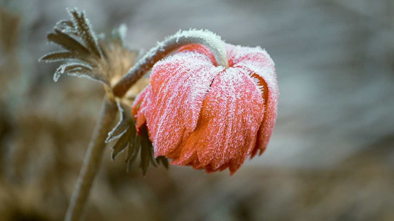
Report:
[[[147,128],[156,157],[233,174],[266,149],[277,112],[274,63],[260,47],[226,44],[226,50],[227,69],[200,44],[153,66],[132,113],[137,130]]]

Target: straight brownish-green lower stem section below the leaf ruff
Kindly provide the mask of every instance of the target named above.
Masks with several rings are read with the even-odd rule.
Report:
[[[116,103],[109,99],[108,96],[105,96],[99,120],[96,123],[92,139],[87,148],[74,192],[71,195],[65,221],[78,221],[81,217],[93,180],[100,168],[102,153],[106,146],[105,140],[108,132],[111,130],[117,110]]]

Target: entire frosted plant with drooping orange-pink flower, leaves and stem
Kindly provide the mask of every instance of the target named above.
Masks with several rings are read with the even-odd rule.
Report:
[[[274,64],[264,50],[232,46],[211,31],[190,29],[158,42],[134,64],[138,52],[123,43],[126,26],[96,36],[84,11],[69,14],[71,20],[58,22],[47,35],[64,50],[40,61],[65,61],[55,81],[62,74],[87,77],[101,82],[106,95],[65,220],[80,218],[112,140],[117,139],[112,159],[127,149],[129,170],[140,153],[144,175],[150,164],[167,167],[167,158],[173,158],[171,164],[234,173],[247,156],[264,151],[278,95]],[[150,85],[131,105],[127,92],[152,67]],[[118,111],[120,121],[111,130]]]

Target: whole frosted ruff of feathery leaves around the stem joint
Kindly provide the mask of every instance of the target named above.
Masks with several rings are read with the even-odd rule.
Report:
[[[115,159],[119,153],[126,149],[127,170],[136,160],[138,153],[141,158],[139,167],[144,175],[149,164],[156,166],[160,163],[167,168],[165,157],[153,157],[152,144],[147,132],[142,131],[139,136],[136,136],[134,119],[131,116],[131,111],[127,111],[130,110],[134,92],[143,83],[143,79],[135,83],[121,98],[115,99],[112,92],[112,87],[127,70],[134,66],[139,55],[138,50],[130,50],[125,45],[127,27],[120,25],[108,35],[103,33],[96,35],[85,11],[78,11],[76,8],[67,9],[67,11],[71,20],[59,21],[54,27],[54,31],[46,35],[48,42],[58,44],[63,50],[48,53],[39,61],[64,62],[56,70],[54,81],[58,81],[62,74],[93,79],[104,85],[106,96],[112,102],[116,101],[121,114],[120,121],[108,133],[106,139],[106,142],[117,140],[112,147],[112,159]]]

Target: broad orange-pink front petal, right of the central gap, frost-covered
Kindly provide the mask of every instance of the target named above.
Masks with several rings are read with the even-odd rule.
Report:
[[[201,119],[171,164],[234,173],[255,147],[263,110],[257,80],[243,68],[228,68],[212,82]]]

